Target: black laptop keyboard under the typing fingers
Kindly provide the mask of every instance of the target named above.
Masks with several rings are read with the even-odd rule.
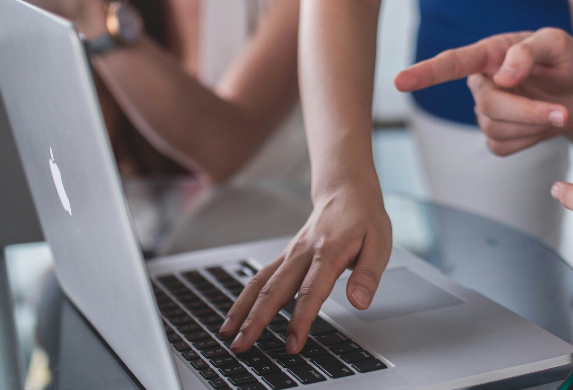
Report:
[[[286,355],[288,317],[282,309],[248,352],[218,335],[244,285],[221,267],[156,278],[153,284],[169,343],[197,374],[218,389],[286,389],[386,368],[379,359],[320,316],[299,355]]]

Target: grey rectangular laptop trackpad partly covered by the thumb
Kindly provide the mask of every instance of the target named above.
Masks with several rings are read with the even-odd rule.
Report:
[[[407,268],[387,270],[372,305],[357,310],[346,298],[346,279],[336,282],[331,299],[360,320],[371,323],[465,303]]]

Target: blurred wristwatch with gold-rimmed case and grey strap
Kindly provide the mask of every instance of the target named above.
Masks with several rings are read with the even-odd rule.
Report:
[[[127,1],[109,2],[106,12],[107,33],[85,42],[89,55],[102,55],[117,46],[133,45],[143,34],[143,19]]]

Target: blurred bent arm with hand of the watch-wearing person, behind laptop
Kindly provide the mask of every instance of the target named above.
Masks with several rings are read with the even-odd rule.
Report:
[[[38,0],[88,38],[105,32],[101,0]],[[159,152],[223,181],[257,152],[297,95],[296,0],[274,0],[244,53],[213,91],[152,39],[92,59],[129,120]]]

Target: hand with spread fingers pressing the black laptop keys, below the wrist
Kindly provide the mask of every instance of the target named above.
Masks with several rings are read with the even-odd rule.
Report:
[[[298,293],[286,331],[286,352],[299,353],[336,279],[354,269],[347,297],[357,309],[370,306],[390,257],[390,219],[379,186],[349,186],[315,198],[307,223],[283,254],[258,272],[227,313],[219,335],[234,337],[231,351],[248,351]]]

